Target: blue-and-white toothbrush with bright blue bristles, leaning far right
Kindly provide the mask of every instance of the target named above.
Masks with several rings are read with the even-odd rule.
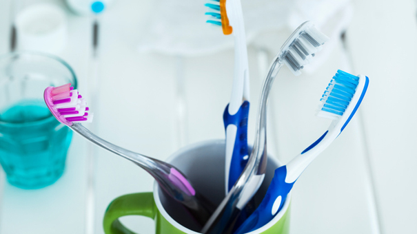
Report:
[[[354,76],[338,70],[321,98],[317,116],[333,119],[323,136],[287,165],[275,170],[265,198],[256,211],[236,230],[243,234],[267,224],[281,210],[287,194],[305,168],[342,133],[367,92],[367,76]]]

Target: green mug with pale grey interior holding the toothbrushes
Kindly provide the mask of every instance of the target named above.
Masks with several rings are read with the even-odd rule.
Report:
[[[183,147],[174,153],[167,162],[179,168],[189,178],[194,188],[205,195],[214,204],[220,204],[225,196],[225,140],[208,140]],[[265,195],[269,183],[274,177],[274,170],[281,163],[268,156],[267,173],[260,189],[254,196],[259,204]],[[273,220],[250,234],[288,234],[289,203],[291,193],[285,200],[283,209]],[[154,192],[132,193],[114,199],[105,211],[103,228],[105,234],[134,234],[123,226],[119,217],[141,215],[150,217],[156,224],[156,234],[199,234],[199,227],[194,226],[185,215],[183,206],[165,195],[154,183]]]

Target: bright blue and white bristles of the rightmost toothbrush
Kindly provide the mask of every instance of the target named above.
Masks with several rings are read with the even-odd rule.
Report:
[[[359,77],[338,70],[321,97],[317,116],[338,119],[343,116],[356,92]]]

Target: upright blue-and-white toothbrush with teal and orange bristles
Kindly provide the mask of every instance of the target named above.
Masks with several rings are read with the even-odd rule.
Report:
[[[223,113],[226,131],[225,193],[229,193],[246,166],[247,118],[249,116],[249,68],[245,25],[240,0],[212,0],[206,15],[212,17],[207,23],[223,28],[223,34],[234,35],[234,77],[230,103]],[[214,10],[214,12],[213,12]]]

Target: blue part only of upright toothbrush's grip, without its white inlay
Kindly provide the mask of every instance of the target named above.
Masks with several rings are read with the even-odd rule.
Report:
[[[236,136],[234,136],[232,158],[230,159],[229,180],[227,181],[228,191],[232,189],[234,183],[238,180],[249,158],[247,157],[247,117],[249,116],[249,106],[249,102],[245,100],[233,116],[229,114],[229,105],[226,106],[225,112],[223,113],[225,130],[227,131],[227,126],[229,125],[235,125],[237,127]]]

